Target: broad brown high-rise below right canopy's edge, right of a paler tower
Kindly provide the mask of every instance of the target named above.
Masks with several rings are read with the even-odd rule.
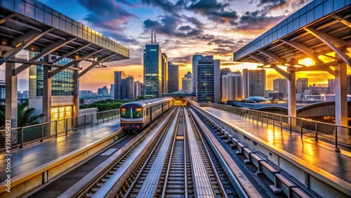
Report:
[[[265,95],[265,70],[243,70],[244,98]]]

